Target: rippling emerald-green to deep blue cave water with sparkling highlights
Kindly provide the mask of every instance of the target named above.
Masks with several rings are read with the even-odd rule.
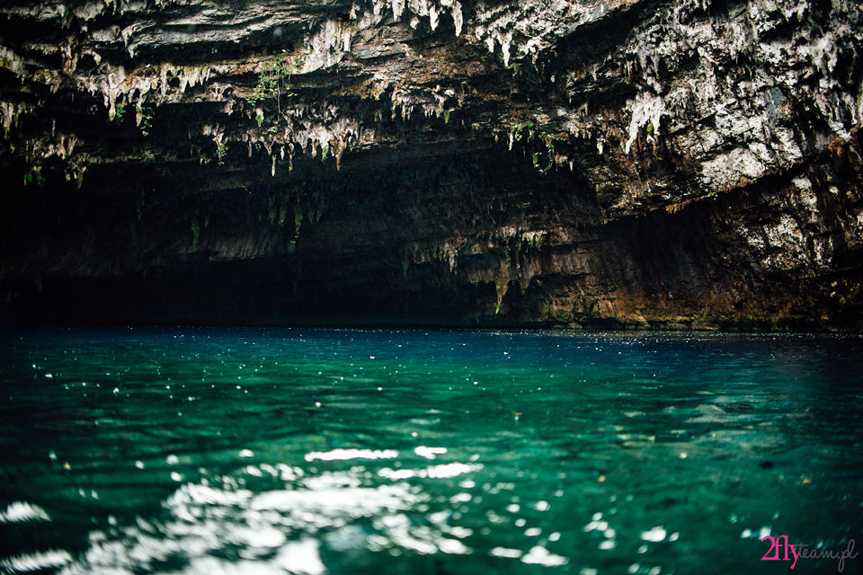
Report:
[[[859,336],[2,332],[0,571],[838,572],[760,539],[863,548],[861,360]]]

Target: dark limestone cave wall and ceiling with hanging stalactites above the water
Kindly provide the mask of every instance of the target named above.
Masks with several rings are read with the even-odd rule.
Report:
[[[8,0],[0,322],[863,330],[853,1]]]

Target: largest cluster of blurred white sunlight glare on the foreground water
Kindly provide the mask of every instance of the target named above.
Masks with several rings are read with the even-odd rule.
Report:
[[[393,450],[334,450],[309,453],[316,459],[393,457]],[[439,464],[411,471],[411,477],[452,478],[482,469],[481,464]],[[377,476],[392,478],[392,470]],[[168,517],[137,525],[93,530],[84,560],[68,564],[65,575],[140,570],[180,573],[268,573],[319,575],[325,572],[319,547],[339,553],[409,550],[414,553],[471,553],[458,537],[472,531],[449,526],[451,512],[408,517],[410,509],[428,509],[432,496],[406,482],[373,484],[363,466],[350,471],[309,474],[285,464],[248,465],[209,482],[186,483],[165,500]],[[251,478],[255,491],[240,487]],[[374,477],[374,475],[372,475]],[[271,489],[273,486],[280,489]],[[460,502],[460,501],[457,501]],[[424,507],[421,507],[423,506]],[[417,520],[419,519],[419,520]],[[323,541],[311,538],[326,530]],[[538,551],[526,562],[559,562]],[[559,563],[558,563],[559,564]]]

